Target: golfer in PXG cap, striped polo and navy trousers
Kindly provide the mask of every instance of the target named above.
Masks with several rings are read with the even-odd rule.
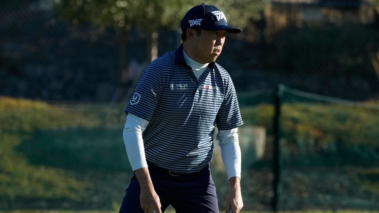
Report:
[[[120,213],[219,213],[209,163],[213,134],[227,170],[226,213],[239,213],[241,119],[234,85],[216,63],[228,33],[225,14],[213,5],[191,8],[181,22],[182,45],[145,70],[125,108],[123,139],[134,175]]]

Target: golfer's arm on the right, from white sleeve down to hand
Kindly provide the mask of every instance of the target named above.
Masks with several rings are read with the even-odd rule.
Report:
[[[221,155],[227,177],[230,183],[230,190],[226,198],[226,213],[232,210],[233,213],[239,213],[243,207],[241,193],[241,149],[239,147],[237,128],[230,130],[219,130],[217,140],[221,147]]]

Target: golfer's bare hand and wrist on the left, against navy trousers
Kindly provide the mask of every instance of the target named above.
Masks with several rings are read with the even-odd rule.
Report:
[[[154,190],[154,186],[152,185],[152,179],[150,178],[148,168],[145,167],[135,170],[134,173],[136,174],[141,187],[141,208],[145,211],[145,213],[162,213],[160,210],[160,200]]]

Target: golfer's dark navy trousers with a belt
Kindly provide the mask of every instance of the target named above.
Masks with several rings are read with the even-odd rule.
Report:
[[[171,205],[176,213],[219,213],[216,187],[209,166],[191,174],[176,174],[152,163],[149,172],[162,205]],[[120,207],[120,213],[144,213],[140,204],[140,184],[133,175]]]

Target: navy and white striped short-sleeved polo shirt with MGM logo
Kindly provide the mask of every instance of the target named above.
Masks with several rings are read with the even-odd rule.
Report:
[[[197,80],[183,46],[146,68],[124,111],[149,121],[142,134],[146,159],[179,173],[210,162],[215,125],[224,130],[243,125],[227,71],[212,62]]]

